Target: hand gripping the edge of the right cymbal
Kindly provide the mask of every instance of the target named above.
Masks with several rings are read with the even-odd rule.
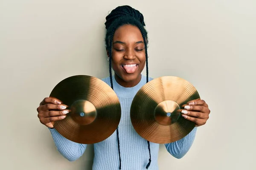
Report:
[[[195,122],[195,126],[204,125],[209,119],[210,110],[204,100],[196,99],[188,102],[188,105],[183,105],[181,113],[185,119]]]

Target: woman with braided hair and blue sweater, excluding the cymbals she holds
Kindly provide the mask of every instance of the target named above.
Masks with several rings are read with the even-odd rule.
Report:
[[[130,120],[130,107],[135,94],[152,80],[148,77],[148,36],[143,14],[130,6],[119,6],[106,17],[105,26],[110,77],[102,80],[118,96],[122,116],[116,131],[108,139],[94,144],[93,169],[157,170],[159,144],[148,142],[138,135]],[[141,75],[145,65],[146,77]],[[57,111],[49,112],[51,109]],[[49,127],[58,151],[69,161],[79,159],[87,145],[64,138],[52,125],[52,122],[66,117],[69,112],[66,107],[57,99],[47,97],[37,111],[40,122]],[[201,126],[206,123],[210,111],[203,100],[195,100],[186,105],[182,113],[184,118]],[[177,159],[182,158],[191,147],[195,133],[196,127],[183,139],[165,144],[166,149]]]

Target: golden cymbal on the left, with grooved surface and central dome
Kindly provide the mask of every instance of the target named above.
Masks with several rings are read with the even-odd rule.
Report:
[[[70,110],[65,119],[55,121],[53,126],[73,142],[101,142],[119,125],[119,99],[101,79],[86,75],[68,77],[53,88],[50,97],[59,99]]]

